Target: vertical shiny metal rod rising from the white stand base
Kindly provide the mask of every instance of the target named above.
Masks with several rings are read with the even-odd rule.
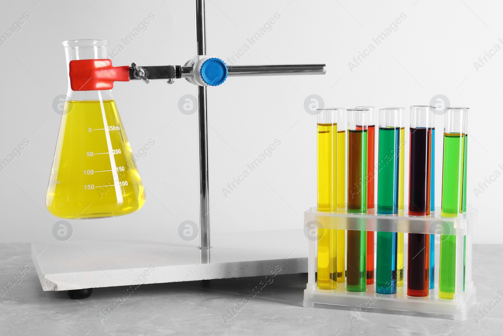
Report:
[[[206,27],[204,0],[196,2],[196,51],[206,54]],[[201,235],[201,263],[210,263],[210,219],[208,186],[208,126],[206,87],[197,87],[199,124],[199,225]]]

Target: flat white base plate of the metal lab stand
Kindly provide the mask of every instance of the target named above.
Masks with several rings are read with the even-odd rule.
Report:
[[[194,241],[33,243],[32,259],[44,291],[307,273],[302,229],[213,236],[209,264]]]

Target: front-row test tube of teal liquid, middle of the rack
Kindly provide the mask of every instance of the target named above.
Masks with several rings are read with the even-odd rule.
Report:
[[[398,214],[400,110],[379,110],[377,213]],[[396,294],[397,233],[377,232],[376,293]]]

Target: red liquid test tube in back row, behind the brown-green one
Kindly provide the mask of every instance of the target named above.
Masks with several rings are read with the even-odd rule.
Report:
[[[374,209],[374,177],[375,177],[375,140],[376,140],[376,108],[375,106],[357,106],[368,112],[368,159],[367,159],[367,209]],[[374,231],[367,231],[367,285],[374,284]]]

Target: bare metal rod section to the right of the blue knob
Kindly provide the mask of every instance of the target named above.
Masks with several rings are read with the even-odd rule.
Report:
[[[229,76],[271,76],[271,75],[324,75],[325,64],[293,65],[232,65],[228,66]]]

